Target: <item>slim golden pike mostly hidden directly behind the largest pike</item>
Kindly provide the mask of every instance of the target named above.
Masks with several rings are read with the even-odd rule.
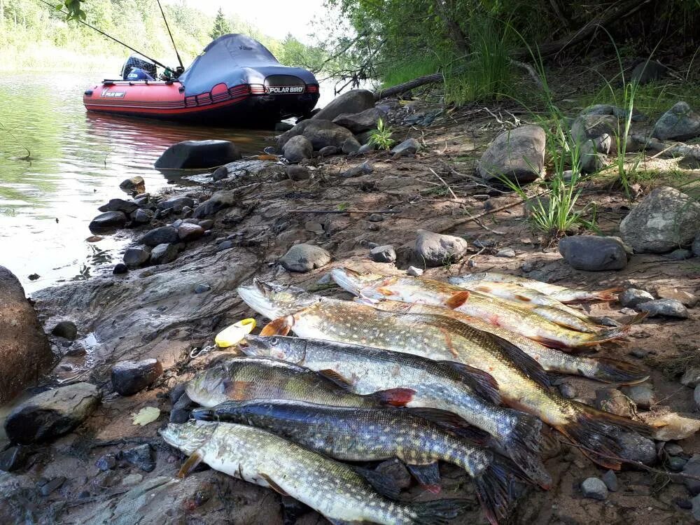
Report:
[[[362,300],[360,300],[362,302]],[[542,365],[547,372],[572,374],[597,379],[605,383],[636,384],[649,378],[648,372],[641,367],[616,359],[590,358],[565,353],[544,346],[523,335],[511,332],[497,325],[486,323],[476,317],[468,316],[461,311],[436,307],[430,304],[412,304],[400,301],[381,300],[366,302],[377,309],[398,311],[403,314],[436,314],[461,321],[484,332],[503,337],[531,358]]]

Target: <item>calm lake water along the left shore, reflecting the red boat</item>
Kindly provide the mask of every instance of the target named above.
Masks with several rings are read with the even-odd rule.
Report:
[[[18,276],[27,293],[111,268],[130,237],[123,232],[90,243],[87,225],[97,207],[126,197],[118,188],[124,179],[144,177],[151,193],[182,184],[153,169],[168,146],[225,139],[252,155],[271,144],[273,132],[87,113],[85,87],[110,74],[0,78],[0,265]],[[322,88],[321,96],[327,99],[328,91]]]

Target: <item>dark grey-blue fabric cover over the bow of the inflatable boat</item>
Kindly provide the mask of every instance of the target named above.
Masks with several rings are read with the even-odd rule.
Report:
[[[185,86],[185,96],[207,93],[217,84],[227,87],[240,84],[264,84],[270,75],[292,75],[307,84],[316,84],[311,71],[283,66],[257,40],[244,34],[225,34],[209,43],[178,80]]]

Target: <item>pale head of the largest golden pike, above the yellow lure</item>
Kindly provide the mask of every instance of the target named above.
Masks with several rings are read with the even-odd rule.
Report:
[[[253,279],[250,286],[236,288],[241,299],[253,310],[269,319],[289,316],[318,300],[301,288],[280,286]]]

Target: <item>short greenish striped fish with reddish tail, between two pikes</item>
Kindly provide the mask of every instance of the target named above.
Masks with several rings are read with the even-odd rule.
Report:
[[[265,357],[235,357],[213,365],[189,381],[186,393],[204,407],[249,399],[290,399],[337,407],[402,406],[414,394],[409,388],[392,388],[359,395],[313,370]]]

